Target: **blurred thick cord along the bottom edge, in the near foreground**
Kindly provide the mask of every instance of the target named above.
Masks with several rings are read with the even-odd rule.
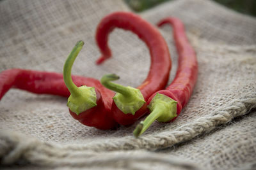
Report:
[[[76,150],[70,152],[59,146],[42,143],[34,138],[10,131],[0,133],[1,164],[10,165],[18,160],[26,160],[36,166],[58,167],[126,167],[134,169],[138,164],[148,162],[162,166],[179,167],[181,169],[200,169],[198,166],[175,157],[167,157],[159,153],[149,153],[143,150],[135,152],[102,152],[92,150]],[[4,143],[6,145],[4,145]],[[140,167],[141,169],[141,167]],[[142,168],[146,169],[146,168]]]

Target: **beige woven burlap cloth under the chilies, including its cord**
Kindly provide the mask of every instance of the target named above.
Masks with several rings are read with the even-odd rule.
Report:
[[[85,46],[73,74],[137,87],[150,57],[131,32],[110,36],[113,58],[95,66],[95,28],[123,1],[0,2],[0,71],[13,67],[62,72],[77,40]],[[155,122],[141,138],[135,125],[100,131],[79,124],[63,97],[10,90],[0,102],[3,169],[253,169],[256,168],[256,20],[212,1],[177,0],[140,13],[152,24],[179,17],[195,47],[199,73],[193,96],[172,124]],[[172,29],[160,29],[177,67]]]

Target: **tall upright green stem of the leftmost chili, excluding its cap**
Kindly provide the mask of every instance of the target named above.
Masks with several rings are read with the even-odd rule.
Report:
[[[76,43],[72,52],[70,52],[70,54],[68,55],[68,58],[64,64],[64,68],[63,68],[63,79],[64,79],[64,82],[65,82],[70,94],[72,94],[72,96],[80,95],[78,92],[78,87],[72,81],[71,70],[72,70],[74,61],[76,60],[76,57],[77,57],[78,53],[80,52],[80,50],[82,49],[83,45],[84,45],[83,41],[78,41]]]

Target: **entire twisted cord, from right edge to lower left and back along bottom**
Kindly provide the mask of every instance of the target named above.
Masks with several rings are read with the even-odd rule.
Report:
[[[256,108],[256,93],[251,93],[243,99],[236,99],[227,107],[214,111],[209,117],[202,117],[193,123],[182,125],[176,131],[161,132],[153,136],[143,136],[140,139],[122,138],[113,143],[95,143],[95,145],[57,146],[43,143],[34,138],[10,131],[0,133],[1,164],[13,164],[24,159],[38,166],[100,166],[104,164],[120,164],[120,162],[161,162],[172,166],[195,169],[193,164],[179,162],[177,159],[159,157],[156,153],[131,155],[131,152],[103,152],[115,150],[148,149],[156,150],[172,146],[175,143],[195,138],[203,132],[211,131],[214,127],[230,122],[234,117],[245,115]],[[99,153],[100,152],[100,153]],[[129,154],[130,153],[130,154]],[[95,159],[97,157],[97,159]],[[119,162],[119,163],[118,163]],[[111,163],[111,164],[110,164]],[[132,164],[132,163],[131,163]]]

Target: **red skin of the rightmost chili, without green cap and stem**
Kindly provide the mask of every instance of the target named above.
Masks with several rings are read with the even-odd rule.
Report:
[[[179,66],[172,83],[165,90],[160,90],[156,93],[164,94],[177,101],[177,115],[179,115],[182,108],[188,103],[195,87],[198,63],[195,50],[189,44],[182,22],[178,18],[168,17],[161,20],[157,25],[160,27],[164,24],[172,25],[173,38],[175,39],[175,45],[179,54]],[[148,104],[156,93],[148,99]],[[170,121],[175,120],[175,118]]]

